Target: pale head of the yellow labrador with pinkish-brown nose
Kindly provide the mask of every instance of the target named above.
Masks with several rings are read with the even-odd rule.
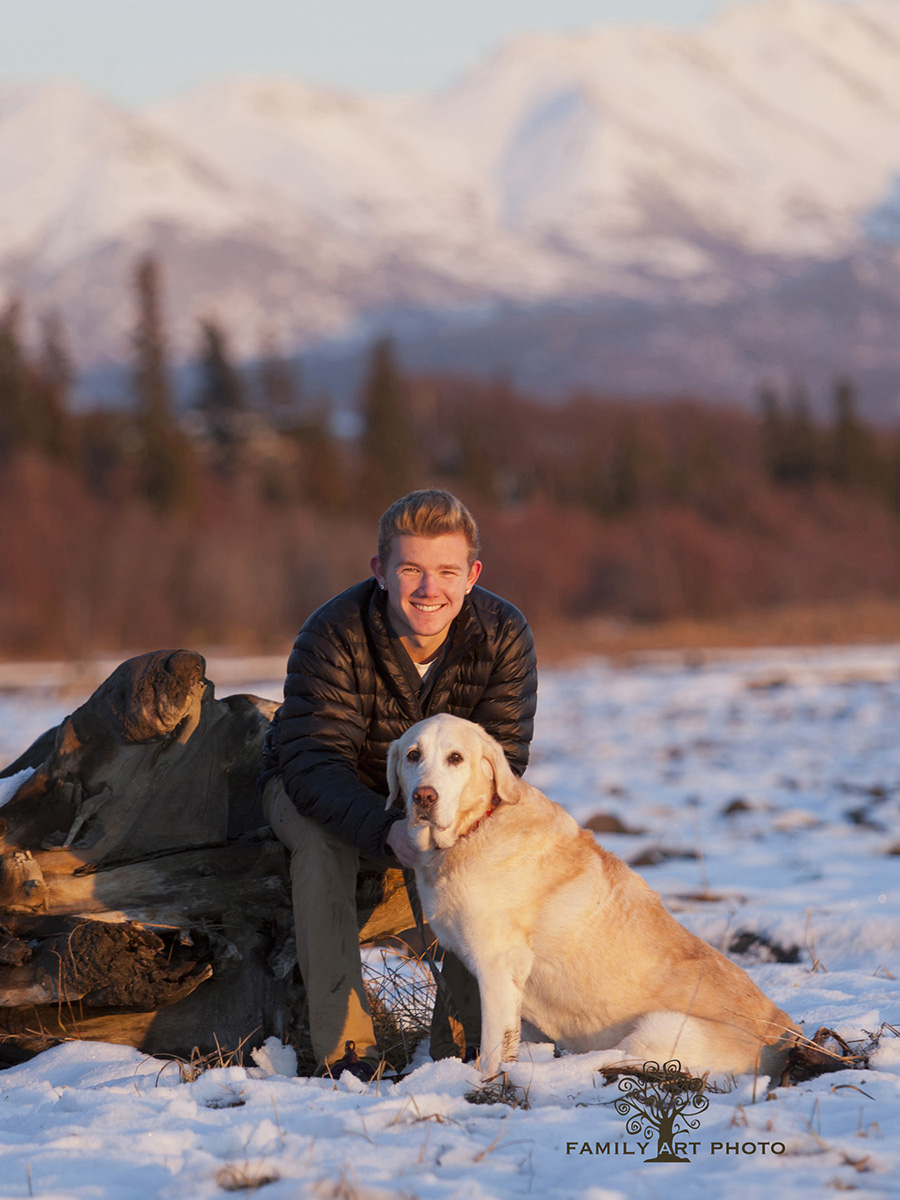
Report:
[[[446,850],[497,802],[515,804],[521,788],[503,748],[473,721],[440,713],[391,744],[388,804],[406,804],[419,850]]]

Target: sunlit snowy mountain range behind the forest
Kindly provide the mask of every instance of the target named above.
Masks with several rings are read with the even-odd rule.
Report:
[[[245,355],[389,325],[547,390],[846,371],[893,408],[900,2],[521,35],[430,96],[0,85],[0,295],[121,361],[146,251],[181,355],[206,314]]]

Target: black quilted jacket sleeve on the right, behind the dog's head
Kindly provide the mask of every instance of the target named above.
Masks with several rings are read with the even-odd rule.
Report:
[[[534,734],[538,707],[538,661],[532,630],[511,605],[493,662],[491,677],[472,720],[476,721],[504,749],[512,770],[522,775]]]

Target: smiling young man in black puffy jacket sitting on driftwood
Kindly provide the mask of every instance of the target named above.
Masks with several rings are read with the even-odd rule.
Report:
[[[410,725],[452,713],[484,726],[522,774],[536,666],[522,614],[476,586],[478,529],[449,492],[412,492],[379,526],[373,577],[310,617],[288,660],[272,726],[264,806],[290,850],[298,959],[318,1069],[364,1076],[380,1058],[359,955],[360,863],[412,866],[402,812],[385,810],[388,748]],[[275,754],[277,770],[275,774]],[[264,780],[265,780],[264,775]],[[478,1044],[478,991],[451,955],[467,1040]],[[432,1032],[432,1054],[450,1051]]]

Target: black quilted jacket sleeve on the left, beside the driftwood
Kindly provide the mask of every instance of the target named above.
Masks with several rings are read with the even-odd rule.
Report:
[[[334,626],[304,626],[288,659],[278,761],[288,796],[304,816],[373,858],[398,818],[366,787],[356,763],[367,718],[353,655]]]

